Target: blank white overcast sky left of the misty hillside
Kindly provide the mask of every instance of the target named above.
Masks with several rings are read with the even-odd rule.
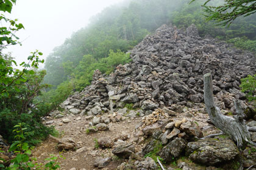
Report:
[[[23,46],[9,47],[18,63],[38,49],[46,58],[73,32],[87,26],[91,16],[122,0],[18,0],[9,16],[25,27],[16,35]]]

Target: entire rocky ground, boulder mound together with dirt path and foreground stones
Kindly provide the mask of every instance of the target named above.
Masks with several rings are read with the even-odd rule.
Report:
[[[229,136],[213,135],[221,131],[203,104],[203,75],[212,73],[215,103],[223,114],[236,114],[233,99],[253,112],[239,86],[241,78],[256,73],[254,54],[201,38],[194,25],[186,30],[163,25],[130,57],[132,62],[110,75],[94,71],[91,85],[62,103],[65,112],[44,118],[65,138],[51,137],[57,148],[49,140],[41,150],[68,151],[61,164],[67,169],[158,169],[161,161],[169,170],[256,164],[255,146],[239,151]],[[254,115],[247,114],[247,126],[256,126]],[[256,132],[250,133],[255,142]],[[213,138],[204,138],[208,135]],[[41,157],[40,149],[37,154]]]

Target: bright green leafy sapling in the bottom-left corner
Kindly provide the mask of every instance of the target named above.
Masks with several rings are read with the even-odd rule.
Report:
[[[23,127],[22,123],[17,124],[13,127],[13,132],[16,133],[15,139],[12,143],[12,145],[9,148],[9,152],[14,152],[16,154],[16,157],[11,160],[11,165],[8,167],[5,167],[3,164],[0,163],[0,168],[5,170],[30,170],[30,169],[49,169],[54,170],[60,168],[58,163],[55,162],[57,160],[57,157],[53,157],[51,155],[50,158],[47,158],[49,162],[46,163],[46,165],[42,166],[39,164],[35,164],[32,161],[30,161],[30,155],[31,150],[33,147],[29,146],[29,143],[27,143],[27,133],[25,132],[26,127]],[[36,160],[35,158],[32,158],[32,160]]]

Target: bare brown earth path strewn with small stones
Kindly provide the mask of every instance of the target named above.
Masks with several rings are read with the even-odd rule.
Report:
[[[88,127],[88,123],[91,120],[87,120],[84,116],[68,116],[71,122],[63,124],[62,119],[54,119],[55,129],[60,132],[60,138],[69,137],[72,138],[77,146],[77,149],[84,147],[84,151],[64,151],[61,155],[65,158],[59,158],[57,161],[61,169],[69,170],[71,168],[91,170],[94,168],[94,159],[96,157],[112,157],[111,163],[104,169],[116,169],[122,160],[119,160],[112,154],[111,149],[96,149],[95,139],[108,136],[112,140],[116,137],[127,134],[132,134],[135,126],[140,122],[141,118],[135,118],[133,120],[127,119],[121,122],[115,122],[108,124],[108,131],[98,131],[96,133],[90,133],[87,135],[85,130]],[[44,163],[44,159],[48,158],[49,155],[59,155],[56,141],[48,138],[43,141],[40,146],[35,147],[33,157],[37,157],[38,163]]]

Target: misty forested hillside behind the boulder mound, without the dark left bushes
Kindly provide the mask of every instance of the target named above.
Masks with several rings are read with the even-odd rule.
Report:
[[[231,39],[230,42],[232,38],[247,37],[241,43],[233,42],[240,48],[255,51],[256,15],[237,18],[229,28],[224,28],[212,21],[205,22],[202,12],[205,7],[201,6],[204,0],[189,4],[190,1],[137,0],[126,6],[108,7],[47,57],[48,74],[44,82],[57,87],[68,81],[73,83],[74,90],[81,91],[90,85],[95,69],[110,74],[116,65],[129,62],[125,53],[162,24],[172,23],[180,28],[196,24],[201,36],[210,34],[221,40]],[[223,2],[214,0],[207,4],[221,5]]]

